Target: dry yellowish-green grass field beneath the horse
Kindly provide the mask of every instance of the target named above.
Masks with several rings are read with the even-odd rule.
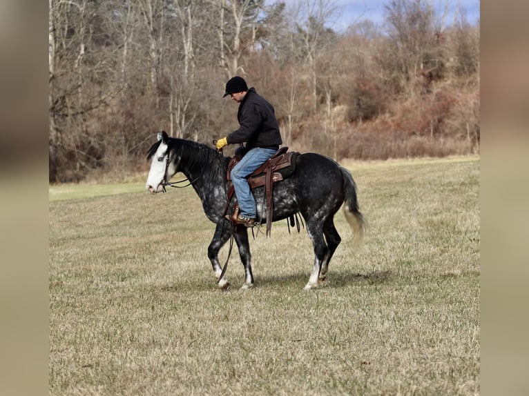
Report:
[[[344,163],[369,221],[305,291],[305,230],[218,290],[192,188],[50,186],[50,395],[477,395],[479,157]],[[221,261],[227,248],[221,250]]]

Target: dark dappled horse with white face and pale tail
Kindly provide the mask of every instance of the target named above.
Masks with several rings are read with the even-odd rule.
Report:
[[[253,275],[248,230],[243,226],[233,229],[230,221],[224,217],[230,158],[204,144],[170,138],[163,131],[157,136],[158,141],[147,154],[147,160],[152,158],[146,182],[147,190],[153,194],[165,191],[171,177],[182,172],[200,197],[206,216],[216,224],[215,234],[208,248],[215,276],[218,279],[222,274],[218,252],[233,232],[244,266],[245,281],[242,288],[251,288]],[[267,216],[264,187],[254,188],[252,192],[256,198],[257,217],[263,223]],[[231,210],[235,201],[236,198],[233,197]],[[307,232],[314,246],[314,266],[305,289],[316,288],[326,279],[329,261],[341,241],[334,226],[334,215],[342,204],[345,204],[343,212],[352,227],[353,237],[361,240],[365,222],[358,210],[354,180],[349,171],[323,155],[298,155],[294,174],[274,184],[272,221],[287,219],[300,213],[305,219]],[[227,279],[222,277],[219,286],[227,288]]]

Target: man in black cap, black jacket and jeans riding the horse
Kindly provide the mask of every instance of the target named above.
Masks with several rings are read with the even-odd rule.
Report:
[[[251,194],[247,177],[272,157],[282,143],[278,120],[273,106],[249,88],[242,77],[235,76],[226,83],[223,97],[240,103],[237,118],[239,128],[219,139],[217,149],[233,143],[246,143],[246,154],[231,170],[231,180],[239,205],[237,224],[253,227],[256,221],[256,201]],[[227,215],[229,218],[229,215]]]

